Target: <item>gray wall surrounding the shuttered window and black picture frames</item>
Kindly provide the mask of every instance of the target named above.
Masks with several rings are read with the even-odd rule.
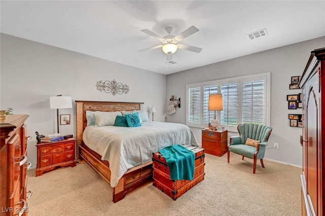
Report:
[[[291,76],[300,76],[310,51],[324,46],[325,37],[322,37],[167,75],[166,104],[171,95],[178,95],[182,101],[181,108],[176,108],[176,113],[167,115],[167,121],[185,124],[186,84],[271,72],[270,122],[273,131],[269,139],[270,149],[266,150],[265,158],[302,166],[302,147],[299,142],[302,129],[289,127],[288,120],[289,113],[302,113],[302,109],[288,110],[286,95],[300,92],[299,89],[289,89]],[[192,130],[201,143],[202,128]],[[229,136],[234,135],[237,134],[229,133]],[[279,143],[279,149],[273,148],[275,142]]]

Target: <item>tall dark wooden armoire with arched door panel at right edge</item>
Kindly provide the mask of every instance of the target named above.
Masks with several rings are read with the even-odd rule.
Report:
[[[302,215],[320,216],[325,215],[325,48],[311,52],[299,86],[303,103]]]

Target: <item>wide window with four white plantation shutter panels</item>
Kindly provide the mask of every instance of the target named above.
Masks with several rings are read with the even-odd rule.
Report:
[[[269,125],[270,73],[186,85],[186,125],[208,127],[214,111],[208,110],[209,95],[222,94],[220,125],[237,132],[237,125]]]

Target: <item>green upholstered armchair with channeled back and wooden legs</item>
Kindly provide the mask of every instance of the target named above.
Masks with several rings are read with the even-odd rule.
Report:
[[[256,161],[258,159],[261,160],[262,167],[265,168],[263,164],[263,158],[265,148],[268,145],[268,139],[272,132],[272,128],[266,125],[241,124],[237,126],[237,130],[239,132],[239,136],[233,136],[230,138],[230,144],[228,146],[227,152],[228,163],[230,160],[230,151],[243,156],[242,160],[244,160],[244,157],[253,159],[253,173],[255,174]],[[257,144],[257,147],[245,145],[247,138],[259,140],[261,142]]]

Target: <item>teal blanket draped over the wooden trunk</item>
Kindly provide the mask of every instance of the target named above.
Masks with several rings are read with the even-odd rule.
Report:
[[[172,180],[193,180],[195,155],[181,145],[170,145],[158,152],[165,158]]]

